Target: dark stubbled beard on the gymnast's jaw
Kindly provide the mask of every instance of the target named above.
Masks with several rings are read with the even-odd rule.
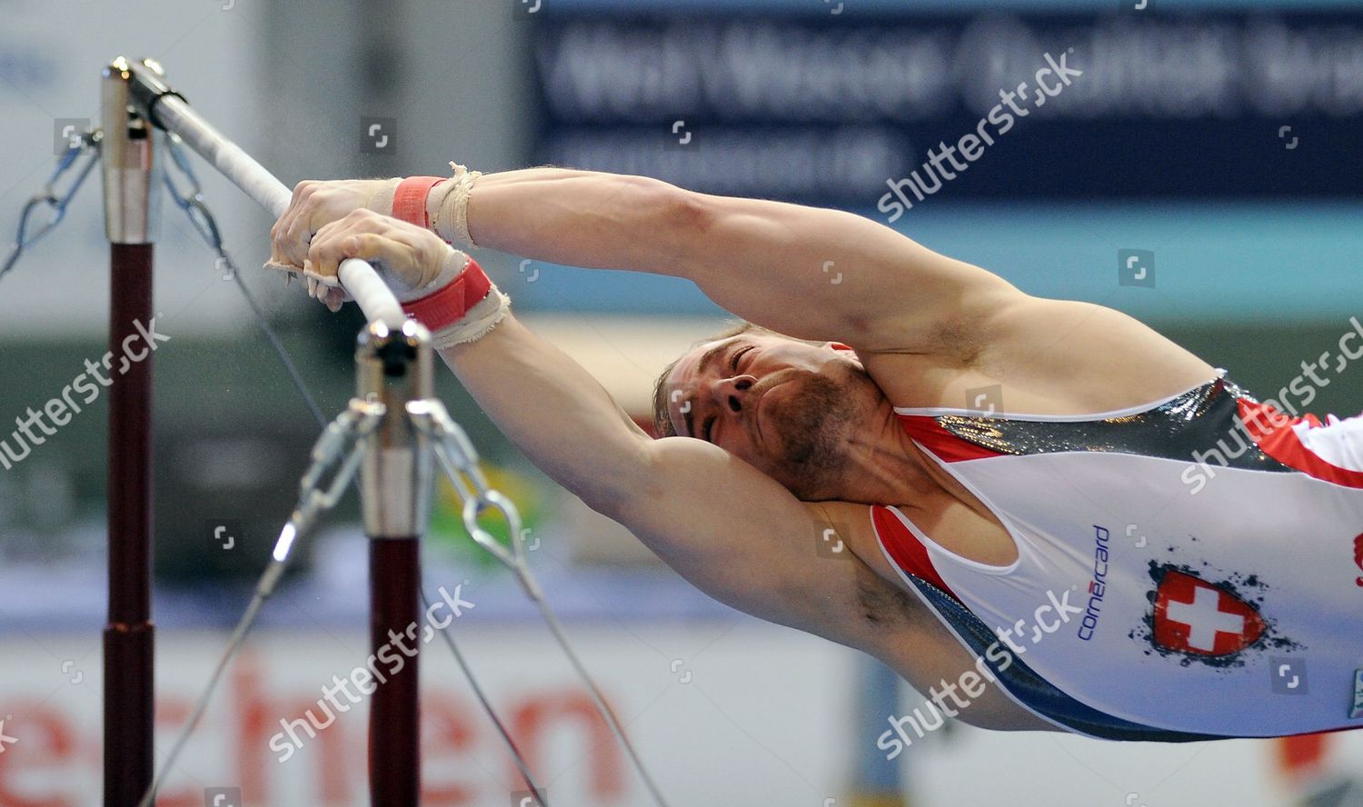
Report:
[[[763,427],[781,435],[781,451],[771,459],[793,480],[788,487],[797,498],[812,499],[837,476],[855,413],[851,390],[823,375],[804,376],[797,395],[767,409]]]

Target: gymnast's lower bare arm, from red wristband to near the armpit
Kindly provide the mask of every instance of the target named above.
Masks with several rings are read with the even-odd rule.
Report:
[[[717,600],[826,633],[819,600],[855,590],[837,577],[851,564],[815,555],[816,511],[722,448],[649,438],[514,315],[440,356],[530,461]]]

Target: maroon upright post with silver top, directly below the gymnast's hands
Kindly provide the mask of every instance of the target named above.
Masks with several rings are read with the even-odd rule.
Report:
[[[432,453],[408,405],[432,395],[429,334],[416,322],[369,323],[356,349],[356,393],[383,405],[360,469],[369,536],[369,638],[378,664],[369,701],[369,803],[409,807],[421,795],[417,661],[421,645],[421,544],[431,519]],[[401,669],[398,669],[401,664]],[[394,672],[395,671],[395,672]]]

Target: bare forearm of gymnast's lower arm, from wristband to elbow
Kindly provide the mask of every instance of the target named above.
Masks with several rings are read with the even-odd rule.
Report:
[[[647,435],[587,371],[514,315],[440,357],[497,428],[587,506],[612,510],[638,485]]]

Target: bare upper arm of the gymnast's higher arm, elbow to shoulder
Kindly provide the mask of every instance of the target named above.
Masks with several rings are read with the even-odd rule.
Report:
[[[694,195],[701,237],[684,251],[716,303],[773,330],[859,349],[915,349],[943,322],[1018,292],[861,215]]]

